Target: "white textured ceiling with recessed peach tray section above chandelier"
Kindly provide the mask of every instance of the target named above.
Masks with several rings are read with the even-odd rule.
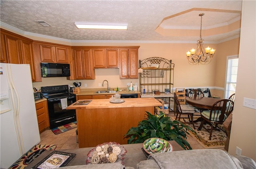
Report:
[[[211,30],[220,26],[228,27],[233,22],[240,21],[242,8],[241,0],[1,0],[0,2],[1,27],[11,26],[10,28],[20,29],[27,34],[36,33],[70,41],[196,41],[200,35],[198,14],[205,13],[202,28]],[[199,10],[190,10],[192,8]],[[43,27],[36,23],[36,20],[45,21],[51,26]],[[77,29],[74,22],[127,23],[128,30]],[[156,31],[157,28],[161,28],[162,33]],[[168,32],[177,29],[180,33],[168,35]],[[193,34],[187,33],[188,35],[184,36],[188,30],[195,29]],[[202,31],[203,39],[212,43],[239,35],[240,27],[225,28],[223,32],[216,31],[205,36]]]

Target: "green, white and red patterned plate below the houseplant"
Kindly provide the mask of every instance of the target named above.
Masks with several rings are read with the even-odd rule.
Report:
[[[148,154],[173,151],[172,145],[162,138],[149,138],[145,140],[143,149]]]

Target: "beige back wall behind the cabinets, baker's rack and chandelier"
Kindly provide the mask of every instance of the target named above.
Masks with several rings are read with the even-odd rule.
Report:
[[[216,56],[219,52],[216,52],[214,59],[207,64],[197,64],[191,65],[188,63],[186,57],[186,51],[192,47],[196,47],[194,44],[166,44],[166,43],[82,43],[80,45],[139,45],[139,59],[146,59],[148,57],[163,57],[165,59],[172,59],[175,64],[174,67],[174,87],[205,87],[215,85],[215,67],[217,63]],[[207,44],[206,44],[207,45]],[[214,48],[217,45],[210,45]],[[225,65],[224,65],[224,70]],[[103,80],[108,80],[110,87],[125,87],[126,83],[132,81],[132,83],[138,83],[139,79],[121,80],[119,79],[119,69],[96,69],[95,70],[96,79],[95,80],[82,80],[81,88],[84,87],[84,83],[87,84],[87,88],[96,88],[98,83],[102,83]],[[70,84],[72,85],[74,81],[67,81],[66,78],[43,78],[42,82],[33,83],[34,87],[41,87],[45,85]],[[223,86],[221,86],[223,87]]]

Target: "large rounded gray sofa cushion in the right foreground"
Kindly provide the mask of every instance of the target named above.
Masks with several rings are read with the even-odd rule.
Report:
[[[150,155],[148,159],[150,160],[146,160],[147,162],[141,161],[137,165],[137,169],[242,168],[239,161],[234,161],[226,151],[221,149],[194,149],[155,153]],[[145,165],[147,166],[145,167]]]

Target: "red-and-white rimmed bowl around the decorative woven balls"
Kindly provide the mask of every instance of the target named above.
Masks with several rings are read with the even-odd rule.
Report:
[[[119,147],[120,148],[120,153],[117,155],[117,159],[115,161],[118,162],[118,163],[121,163],[122,165],[124,165],[124,155],[127,153],[127,150],[124,148],[124,146],[120,145],[119,143],[116,143],[116,142],[107,142],[107,143],[102,143],[102,144],[99,144],[97,145],[96,147],[94,147],[92,150],[89,151],[89,153],[87,154],[87,159],[86,159],[86,164],[94,164],[92,163],[92,156],[95,154],[95,153],[98,153],[99,151],[97,151],[96,149],[99,148],[99,147],[104,147],[104,146],[108,146],[108,147]],[[113,151],[114,152],[114,151]],[[106,152],[105,152],[106,154]],[[109,157],[108,157],[109,158]],[[99,162],[100,163],[100,162]],[[110,162],[108,162],[110,163]]]

